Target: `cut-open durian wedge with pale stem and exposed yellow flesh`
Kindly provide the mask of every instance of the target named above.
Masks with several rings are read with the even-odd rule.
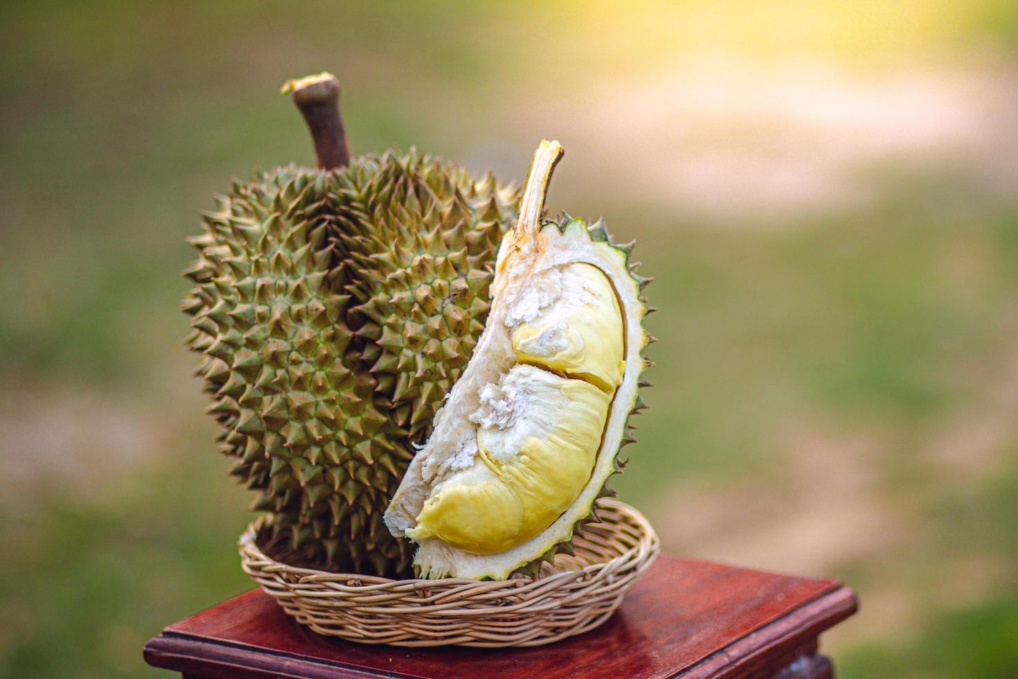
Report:
[[[484,334],[386,511],[423,577],[505,579],[570,551],[643,407],[648,279],[602,223],[541,220],[561,155],[533,157]]]

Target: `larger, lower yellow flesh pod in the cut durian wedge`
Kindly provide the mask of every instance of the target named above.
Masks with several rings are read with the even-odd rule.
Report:
[[[551,525],[590,477],[611,394],[520,364],[482,403],[474,463],[433,489],[413,540],[504,552]]]

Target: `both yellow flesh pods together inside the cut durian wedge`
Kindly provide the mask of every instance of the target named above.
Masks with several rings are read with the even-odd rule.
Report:
[[[504,552],[547,529],[590,478],[625,365],[618,299],[577,263],[544,272],[517,302],[522,318],[507,325],[518,362],[482,390],[476,453],[432,489],[413,540]]]

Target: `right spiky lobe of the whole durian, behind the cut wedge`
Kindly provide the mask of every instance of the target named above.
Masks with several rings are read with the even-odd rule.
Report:
[[[337,237],[355,272],[363,358],[391,416],[421,443],[484,330],[518,190],[412,150],[367,158],[338,179]]]

